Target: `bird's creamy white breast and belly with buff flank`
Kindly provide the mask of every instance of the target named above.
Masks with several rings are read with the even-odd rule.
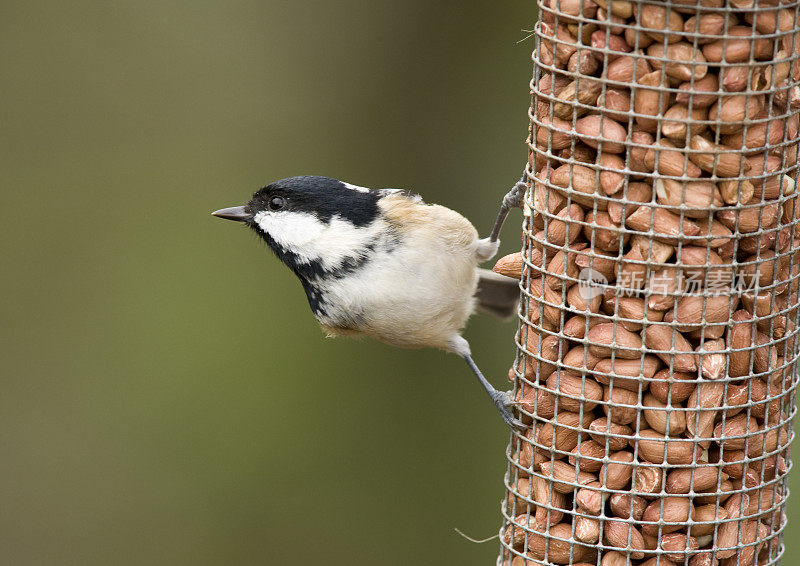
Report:
[[[396,246],[379,246],[358,270],[320,289],[326,304],[359,321],[348,330],[396,346],[447,349],[474,310],[477,234],[452,211],[415,206],[424,215],[407,219]],[[336,327],[335,316],[319,320]]]

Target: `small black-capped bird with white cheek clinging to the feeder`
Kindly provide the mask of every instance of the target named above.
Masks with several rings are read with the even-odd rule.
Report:
[[[513,396],[484,377],[462,336],[480,310],[511,316],[519,283],[479,265],[497,253],[526,174],[503,197],[490,235],[461,214],[408,190],[368,189],[329,177],[274,181],[241,206],[211,214],[254,230],[300,280],[330,337],[369,336],[401,348],[438,348],[462,357],[510,427]]]

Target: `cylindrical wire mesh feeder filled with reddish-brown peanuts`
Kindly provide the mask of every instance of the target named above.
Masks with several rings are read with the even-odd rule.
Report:
[[[498,564],[780,563],[799,7],[539,0]]]

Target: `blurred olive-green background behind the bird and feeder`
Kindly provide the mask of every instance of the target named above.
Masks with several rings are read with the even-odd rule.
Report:
[[[0,13],[0,563],[493,563],[453,531],[497,532],[507,443],[463,362],[323,339],[209,212],[315,173],[486,233],[526,159],[533,2]],[[497,384],[513,332],[467,331]]]

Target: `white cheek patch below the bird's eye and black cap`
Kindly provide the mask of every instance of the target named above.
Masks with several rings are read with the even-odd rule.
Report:
[[[334,269],[345,259],[359,255],[385,228],[381,220],[357,227],[339,216],[326,223],[313,214],[296,211],[265,210],[258,212],[254,220],[277,244],[296,254],[300,262],[316,261],[324,269]]]

